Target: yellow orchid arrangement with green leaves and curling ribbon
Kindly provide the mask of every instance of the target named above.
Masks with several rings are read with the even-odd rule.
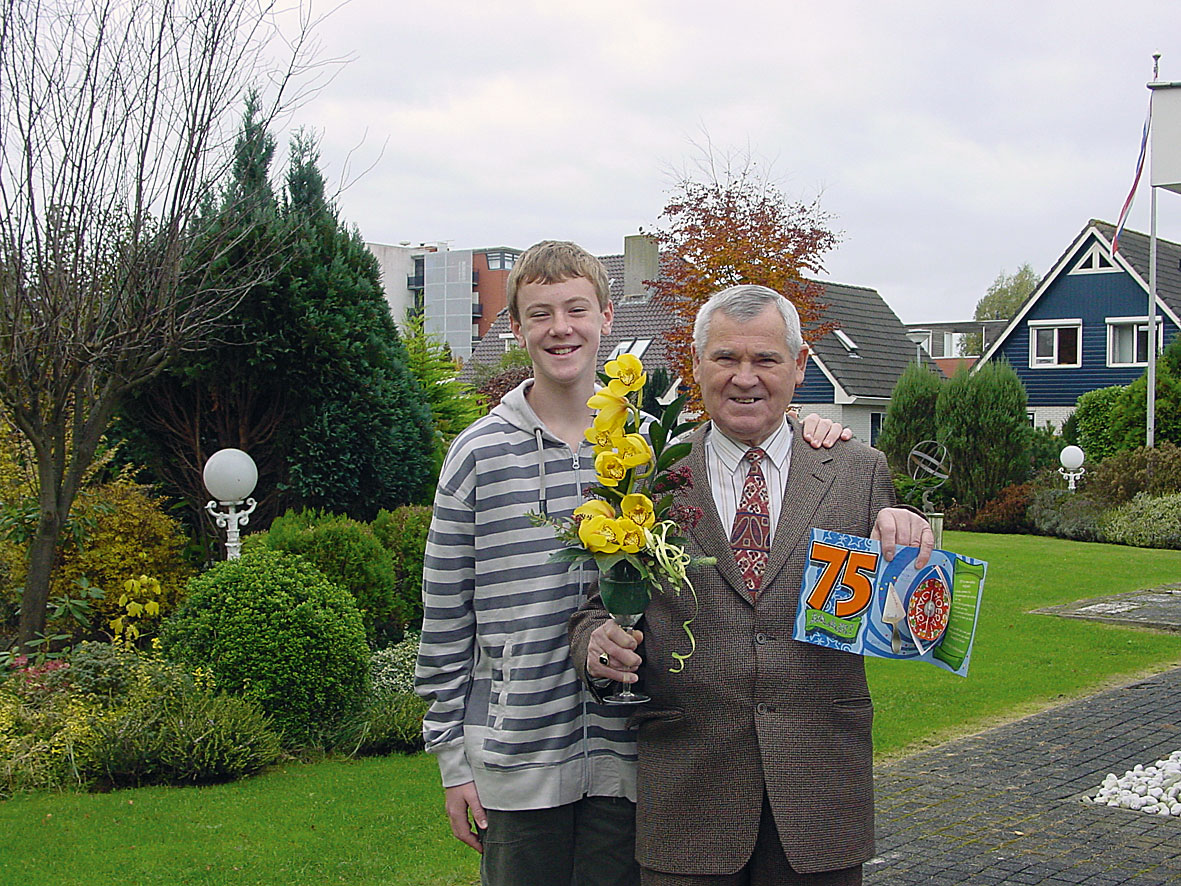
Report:
[[[697,593],[689,580],[690,566],[715,562],[685,552],[684,532],[697,525],[698,508],[677,504],[674,493],[692,484],[687,465],[677,463],[691,444],[677,438],[693,426],[680,422],[685,397],[670,403],[658,419],[645,424],[640,412],[647,373],[633,354],[611,360],[602,376],[605,386],[587,400],[595,417],[586,430],[594,444],[595,482],[585,490],[587,502],[573,517],[530,514],[537,526],[554,527],[563,543],[550,560],[578,563],[594,561],[603,606],[624,627],[639,621],[652,591]],[[645,436],[645,434],[647,436]],[[697,641],[684,623],[689,652],[673,653],[674,673],[685,666]]]

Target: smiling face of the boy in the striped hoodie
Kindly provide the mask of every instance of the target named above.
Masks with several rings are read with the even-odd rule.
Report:
[[[522,284],[513,334],[529,352],[535,383],[593,386],[600,338],[611,332],[613,308],[599,307],[594,284],[575,276],[556,284]]]

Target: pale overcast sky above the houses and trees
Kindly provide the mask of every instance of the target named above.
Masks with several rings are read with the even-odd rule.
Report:
[[[707,136],[820,198],[828,278],[905,323],[1114,222],[1153,53],[1181,80],[1177,0],[352,0],[318,34],[352,61],[293,125],[366,240],[620,253]],[[1159,207],[1181,240],[1181,195]]]

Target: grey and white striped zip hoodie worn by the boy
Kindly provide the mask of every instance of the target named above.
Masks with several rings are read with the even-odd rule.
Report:
[[[475,780],[490,809],[553,808],[582,796],[635,799],[627,714],[600,705],[569,662],[566,625],[594,568],[548,562],[559,546],[529,512],[569,516],[594,478],[579,451],[510,391],[451,444],[423,566],[415,683],[444,787]]]

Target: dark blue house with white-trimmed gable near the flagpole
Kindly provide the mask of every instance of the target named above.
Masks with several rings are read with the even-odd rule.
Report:
[[[1061,428],[1078,397],[1135,382],[1148,366],[1148,235],[1091,220],[980,358],[1007,359],[1030,419]],[[1156,241],[1157,353],[1181,321],[1181,245]]]

